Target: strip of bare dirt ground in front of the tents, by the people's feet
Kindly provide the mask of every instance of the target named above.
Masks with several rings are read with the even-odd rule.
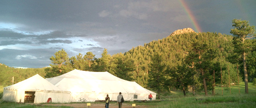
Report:
[[[41,106],[42,104],[38,104]],[[87,106],[86,103],[72,103],[72,104],[43,104],[43,105],[53,105],[53,106],[70,106],[73,108],[105,108],[105,103],[91,103],[91,106]],[[109,108],[118,108],[117,103],[109,103]],[[133,108],[131,104],[123,103],[122,108]],[[136,105],[135,108],[148,108],[148,106]]]

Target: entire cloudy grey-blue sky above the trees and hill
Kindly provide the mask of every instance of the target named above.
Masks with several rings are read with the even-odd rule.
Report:
[[[256,25],[256,0],[0,0],[0,63],[42,68],[65,50],[100,58],[178,29],[230,34],[233,19]]]

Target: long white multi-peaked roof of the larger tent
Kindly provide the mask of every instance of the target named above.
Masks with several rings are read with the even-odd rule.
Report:
[[[97,92],[97,93],[154,93],[144,89],[138,83],[120,79],[108,72],[89,72],[72,70],[68,73],[46,78],[59,89],[70,92]]]

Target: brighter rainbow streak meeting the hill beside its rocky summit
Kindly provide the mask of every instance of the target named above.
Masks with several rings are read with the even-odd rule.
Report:
[[[187,3],[184,0],[179,0],[181,3],[181,6],[184,8],[184,10],[186,11],[187,15],[190,18],[190,22],[192,22],[195,31],[196,32],[202,32],[202,29],[200,28],[194,14],[192,13],[192,11],[189,9],[189,7],[187,6]]]

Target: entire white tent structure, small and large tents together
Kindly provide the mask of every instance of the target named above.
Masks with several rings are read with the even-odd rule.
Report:
[[[115,101],[119,92],[122,92],[125,101],[148,100],[150,93],[153,95],[153,100],[156,97],[156,93],[144,89],[138,83],[120,79],[108,72],[72,70],[46,79],[36,74],[19,83],[4,87],[3,100],[25,102],[25,95],[30,94],[33,95],[34,103],[47,102],[48,98],[58,103],[78,102],[80,98],[95,102],[105,100],[108,94],[110,100]]]

